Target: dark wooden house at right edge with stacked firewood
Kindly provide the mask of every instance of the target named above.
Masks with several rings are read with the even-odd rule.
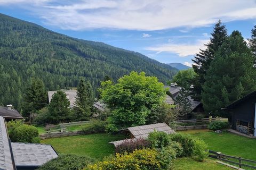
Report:
[[[232,129],[241,133],[256,136],[256,91],[228,105],[227,112],[231,115]]]

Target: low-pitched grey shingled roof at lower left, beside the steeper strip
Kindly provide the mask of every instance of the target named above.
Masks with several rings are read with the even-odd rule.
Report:
[[[41,166],[58,157],[51,145],[17,142],[11,145],[16,166]]]

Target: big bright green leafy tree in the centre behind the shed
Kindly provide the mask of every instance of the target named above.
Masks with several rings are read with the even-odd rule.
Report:
[[[164,100],[166,90],[156,77],[146,77],[144,72],[131,72],[118,79],[101,83],[101,100],[111,111],[107,130],[117,131],[146,123],[153,108]]]

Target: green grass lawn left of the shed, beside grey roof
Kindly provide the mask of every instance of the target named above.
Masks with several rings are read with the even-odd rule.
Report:
[[[114,153],[114,145],[108,142],[124,138],[125,136],[121,134],[98,133],[50,138],[42,140],[41,143],[51,144],[59,154],[86,155],[101,160],[103,157]]]

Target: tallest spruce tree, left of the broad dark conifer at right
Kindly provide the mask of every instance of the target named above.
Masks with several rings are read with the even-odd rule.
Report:
[[[193,69],[197,76],[194,80],[194,96],[193,98],[196,100],[201,100],[202,86],[205,82],[206,71],[210,68],[210,64],[214,58],[215,52],[219,49],[222,43],[227,38],[227,29],[225,25],[221,23],[219,20],[213,31],[211,33],[210,42],[205,44],[206,49],[199,49],[199,53],[196,54],[195,59],[192,60],[195,65],[193,65]]]

